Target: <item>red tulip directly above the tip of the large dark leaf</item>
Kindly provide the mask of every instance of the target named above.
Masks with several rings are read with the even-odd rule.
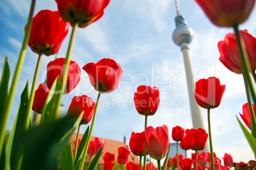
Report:
[[[72,115],[72,118],[75,119],[83,112],[83,117],[81,124],[88,124],[92,120],[92,115],[94,115],[96,103],[92,101],[92,98],[83,95],[75,96],[68,109],[67,115]]]

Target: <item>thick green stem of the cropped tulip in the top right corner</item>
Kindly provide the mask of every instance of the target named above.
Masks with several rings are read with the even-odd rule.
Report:
[[[245,53],[246,51],[245,51],[245,49],[243,49],[244,47],[242,46],[238,24],[234,25],[233,28],[234,28],[234,32],[236,34],[236,40],[238,42],[238,49],[239,49],[242,67],[243,67],[244,79],[245,79],[245,81],[248,82],[248,86],[249,86],[251,94],[252,94],[252,99],[253,99],[254,103],[256,103],[255,89],[253,88],[253,82],[252,82],[252,78],[250,76],[250,72],[252,72],[252,69],[250,67],[247,53]]]

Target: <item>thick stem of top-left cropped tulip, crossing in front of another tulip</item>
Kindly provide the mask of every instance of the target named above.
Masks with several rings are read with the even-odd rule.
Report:
[[[65,87],[66,87],[66,83],[67,83],[67,79],[68,79],[69,63],[70,63],[70,58],[71,58],[71,52],[72,52],[73,45],[74,45],[74,42],[75,42],[75,36],[76,36],[76,30],[78,28],[78,23],[79,22],[74,23],[73,30],[71,32],[71,37],[70,37],[70,40],[69,40],[69,46],[68,46],[68,51],[67,51],[67,55],[66,55],[66,60],[65,60],[65,63],[64,63],[62,77],[60,78],[60,93],[57,97],[57,101],[55,103],[55,108],[54,108],[54,112],[53,112],[54,113],[54,119],[58,119],[59,106],[60,106],[62,95],[65,91]]]

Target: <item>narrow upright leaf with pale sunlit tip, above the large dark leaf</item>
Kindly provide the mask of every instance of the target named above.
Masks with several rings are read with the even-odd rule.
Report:
[[[55,81],[52,84],[52,88],[50,89],[50,93],[48,94],[46,100],[45,100],[45,105],[43,106],[43,110],[41,112],[41,122],[40,124],[42,124],[45,121],[50,121],[52,120],[52,114],[54,107],[55,107],[55,103],[57,100],[57,96],[59,95],[57,93],[57,89],[60,88],[60,83],[59,83],[59,76],[55,79]]]

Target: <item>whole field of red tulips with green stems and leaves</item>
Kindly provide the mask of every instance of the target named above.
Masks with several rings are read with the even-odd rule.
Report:
[[[239,25],[250,16],[255,0],[194,1],[211,23],[234,31],[216,45],[220,53],[219,60],[224,67],[234,74],[243,75],[247,102],[243,105],[243,112],[236,118],[256,157],[256,38],[248,30],[239,30]],[[10,71],[8,56],[3,63],[0,82],[0,169],[96,170],[99,169],[100,158],[104,160],[101,168],[103,170],[256,169],[256,160],[235,162],[229,153],[221,157],[215,154],[211,112],[212,109],[218,110],[228,88],[215,76],[196,81],[194,91],[197,104],[207,112],[207,131],[203,128],[185,129],[181,126],[168,127],[166,124],[153,127],[148,124],[148,117],[153,117],[159,109],[160,87],[140,85],[132,93],[132,103],[134,112],[137,111],[145,120],[144,130],[139,133],[131,132],[129,145],[118,147],[118,155],[106,152],[106,141],[98,137],[91,140],[92,132],[96,125],[97,112],[101,112],[99,103],[102,95],[113,94],[120,86],[126,68],[111,56],[80,67],[71,56],[76,48],[74,43],[78,29],[89,27],[100,20],[111,1],[55,0],[58,11],[41,10],[34,13],[36,3],[36,0],[31,0],[15,72]],[[71,32],[71,36],[66,56],[56,57],[47,64],[46,80],[37,86],[42,57],[57,55],[62,42],[68,38],[68,32]],[[24,90],[20,95],[13,128],[10,134],[6,134],[21,69],[25,65],[27,46],[38,56],[34,77],[32,82],[27,81],[26,86],[22,87]],[[97,100],[94,101],[90,93],[74,96],[65,116],[60,117],[62,97],[70,95],[78,86],[83,78],[82,72],[89,77],[89,86],[97,94]],[[32,124],[32,111],[41,115],[38,124]],[[111,126],[115,126],[115,123],[117,122],[113,122]],[[87,129],[80,138],[81,127],[84,126]],[[71,141],[75,131],[76,140]],[[176,143],[174,157],[169,157],[171,140]],[[204,151],[208,140],[210,152]],[[179,146],[185,150],[185,154],[178,153]],[[187,154],[188,150],[192,152],[191,156]],[[136,155],[140,163],[128,161],[130,154]],[[146,160],[148,157],[150,162]]]

